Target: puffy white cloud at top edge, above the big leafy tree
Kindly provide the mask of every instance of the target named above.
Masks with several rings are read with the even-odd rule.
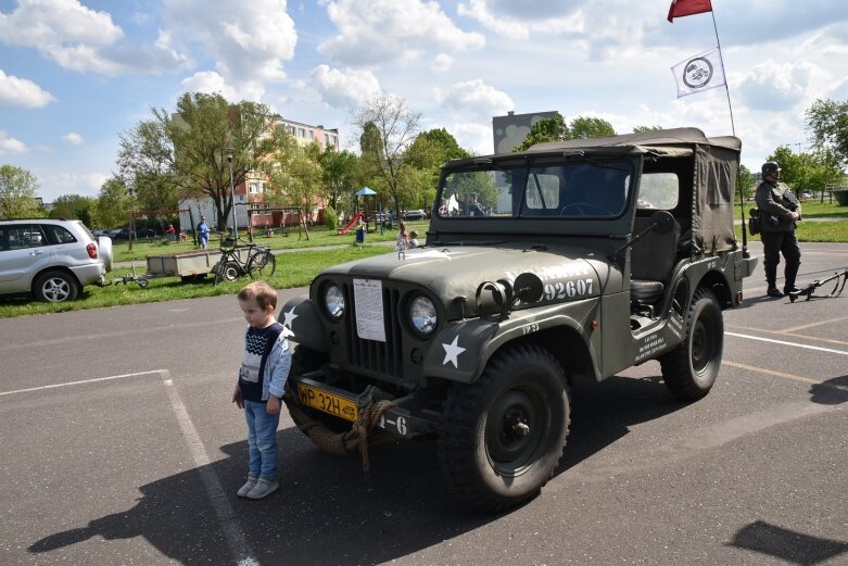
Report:
[[[201,47],[239,91],[264,92],[260,85],[284,79],[282,63],[294,58],[298,33],[286,0],[165,0],[162,17],[161,46]]]

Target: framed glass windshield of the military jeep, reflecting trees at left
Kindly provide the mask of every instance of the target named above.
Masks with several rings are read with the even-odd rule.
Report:
[[[442,177],[443,218],[617,218],[633,193],[634,163],[624,158],[476,159]]]

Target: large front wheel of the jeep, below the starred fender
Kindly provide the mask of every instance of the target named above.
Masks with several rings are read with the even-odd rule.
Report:
[[[498,353],[471,385],[450,390],[439,458],[451,490],[485,511],[535,496],[562,455],[569,388],[546,350],[520,345]]]

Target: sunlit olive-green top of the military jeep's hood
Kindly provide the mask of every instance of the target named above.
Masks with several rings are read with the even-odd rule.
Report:
[[[582,257],[592,257],[590,263]],[[585,248],[556,247],[439,247],[392,252],[330,267],[322,276],[342,275],[369,279],[392,279],[429,289],[444,303],[457,297],[472,299],[483,281],[515,281],[522,273],[537,275],[544,284],[574,277],[604,280],[597,268],[604,259]]]

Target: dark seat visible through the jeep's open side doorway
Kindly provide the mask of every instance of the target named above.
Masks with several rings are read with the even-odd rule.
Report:
[[[650,218],[636,217],[633,234],[642,234]],[[648,231],[630,249],[630,299],[637,304],[654,304],[662,297],[674,268],[680,224],[668,234]]]

